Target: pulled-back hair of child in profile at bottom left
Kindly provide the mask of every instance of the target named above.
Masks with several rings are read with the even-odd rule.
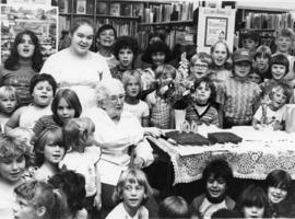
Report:
[[[45,182],[27,181],[16,186],[14,193],[27,200],[34,208],[45,207],[44,219],[64,218],[64,197],[52,185]]]

